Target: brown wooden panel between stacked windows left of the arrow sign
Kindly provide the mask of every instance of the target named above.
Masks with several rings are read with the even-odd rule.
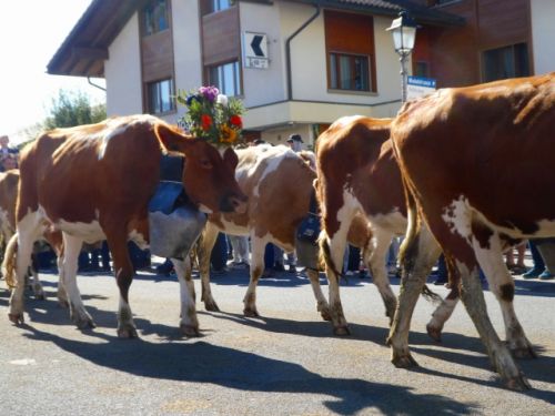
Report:
[[[238,7],[202,17],[202,51],[204,65],[225,63],[241,57]]]

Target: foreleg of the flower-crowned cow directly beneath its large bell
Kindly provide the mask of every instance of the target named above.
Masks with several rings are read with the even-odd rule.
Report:
[[[191,275],[191,258],[172,258],[175,274],[178,275],[181,297],[181,321],[179,327],[185,336],[199,336],[199,319],[196,318],[194,282]]]

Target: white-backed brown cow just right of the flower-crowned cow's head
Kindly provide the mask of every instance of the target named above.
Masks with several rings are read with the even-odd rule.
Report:
[[[310,209],[313,182],[316,172],[311,166],[313,153],[294,153],[285,146],[259,145],[238,150],[239,165],[236,180],[249,196],[244,214],[212,214],[209,216],[200,244],[200,273],[202,278],[202,300],[209,311],[218,311],[210,290],[210,252],[218,233],[249,235],[251,237],[251,280],[244,296],[244,314],[259,316],[256,308],[256,284],[264,271],[264,248],[273,243],[285,252],[295,248],[295,233]],[[366,222],[357,217],[350,231],[349,241],[361,248],[371,239]],[[314,263],[319,250],[314,246]],[[306,268],[316,310],[324,319],[330,319],[327,301],[320,286],[319,271]]]

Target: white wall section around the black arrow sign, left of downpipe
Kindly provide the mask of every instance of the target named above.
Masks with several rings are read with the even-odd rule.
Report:
[[[245,106],[282,101],[286,98],[284,38],[280,26],[280,3],[255,4],[240,2],[241,38],[255,32],[268,35],[268,69],[243,68],[243,94]]]

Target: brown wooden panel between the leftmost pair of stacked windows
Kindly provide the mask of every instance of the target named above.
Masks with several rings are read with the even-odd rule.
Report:
[[[173,43],[171,30],[144,37],[142,45],[142,78],[144,82],[173,77]]]

